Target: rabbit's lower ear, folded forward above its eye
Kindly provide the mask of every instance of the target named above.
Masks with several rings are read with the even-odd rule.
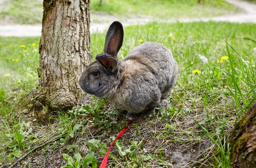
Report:
[[[117,66],[117,60],[110,55],[105,53],[99,54],[96,56],[96,60],[98,60],[107,70],[114,70]]]

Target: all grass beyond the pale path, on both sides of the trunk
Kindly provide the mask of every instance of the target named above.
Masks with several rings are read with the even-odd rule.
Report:
[[[182,19],[187,17],[213,17],[240,12],[239,8],[224,0],[91,0],[91,14],[99,18],[94,21],[102,22],[106,13],[117,18],[146,17],[161,19]],[[7,0],[0,7],[0,22],[19,24],[40,24],[42,22],[42,0]],[[110,17],[110,16],[108,16]]]

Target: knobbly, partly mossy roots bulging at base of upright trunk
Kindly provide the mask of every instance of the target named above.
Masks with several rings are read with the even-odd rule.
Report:
[[[56,90],[51,95],[47,95],[46,90],[38,89],[24,95],[17,103],[12,119],[45,119],[49,118],[50,112],[66,111],[77,105],[76,96],[69,90]]]

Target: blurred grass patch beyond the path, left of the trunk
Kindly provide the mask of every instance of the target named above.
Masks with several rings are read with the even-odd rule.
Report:
[[[7,0],[0,7],[0,22],[36,24],[42,22],[42,0]]]

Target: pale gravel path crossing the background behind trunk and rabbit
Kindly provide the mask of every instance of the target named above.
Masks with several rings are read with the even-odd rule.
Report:
[[[0,3],[3,0],[0,0]],[[241,0],[225,0],[228,3],[239,6],[239,8],[244,10],[244,13],[234,14],[234,15],[224,15],[220,17],[211,17],[211,18],[193,18],[193,19],[183,19],[179,22],[197,22],[197,21],[227,21],[227,22],[252,22],[256,23],[256,5],[248,3]],[[100,17],[101,20],[105,20],[101,23],[93,22],[97,20],[95,18]],[[103,32],[108,28],[109,24],[115,20],[120,20],[120,18],[115,18],[105,15],[93,15],[91,14],[91,25],[90,32]],[[107,22],[108,20],[108,22]],[[122,19],[123,25],[136,25],[136,24],[145,24],[147,22],[154,21],[151,17],[138,17],[131,19]],[[158,22],[177,22],[177,20],[157,20]],[[0,36],[41,36],[42,25],[0,25]]]

